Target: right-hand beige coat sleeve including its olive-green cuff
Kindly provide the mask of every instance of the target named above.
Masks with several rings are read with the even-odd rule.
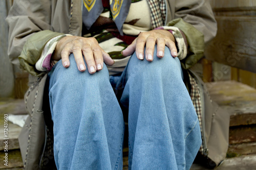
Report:
[[[187,69],[204,56],[204,44],[216,36],[217,22],[209,0],[170,0],[168,5],[173,9],[173,20],[167,26],[179,28],[186,36],[187,57],[181,62]]]

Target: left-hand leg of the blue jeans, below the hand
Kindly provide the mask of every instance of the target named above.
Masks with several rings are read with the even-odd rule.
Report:
[[[104,65],[90,75],[57,62],[50,72],[54,158],[58,169],[122,169],[123,115]]]

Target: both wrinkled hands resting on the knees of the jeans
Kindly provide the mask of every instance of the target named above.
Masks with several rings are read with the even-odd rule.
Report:
[[[173,57],[177,57],[177,48],[175,38],[172,33],[167,30],[152,30],[142,32],[139,36],[122,51],[123,56],[130,56],[136,52],[139,60],[146,58],[147,61],[153,61],[155,44],[157,44],[157,57],[164,56],[164,48],[167,46]],[[146,47],[144,54],[144,47]],[[113,65],[114,60],[111,59],[108,53],[104,52],[99,46],[95,38],[84,38],[78,36],[66,36],[60,39],[53,53],[53,60],[62,59],[64,67],[70,66],[69,55],[73,53],[77,68],[79,71],[85,71],[87,63],[90,74],[103,68],[103,62],[106,65]]]

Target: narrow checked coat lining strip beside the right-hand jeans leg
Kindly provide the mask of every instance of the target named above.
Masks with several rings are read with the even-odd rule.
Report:
[[[188,77],[189,77],[189,82],[191,84],[191,91],[190,91],[190,98],[193,102],[193,105],[195,107],[195,110],[196,110],[196,113],[197,113],[197,116],[198,116],[198,120],[199,120],[199,125],[200,125],[200,129],[201,129],[201,136],[202,135],[202,110],[201,110],[201,96],[200,96],[200,89],[198,87],[198,84],[196,82],[196,79],[194,77],[192,77],[189,72],[188,72]],[[203,140],[203,138],[202,138]],[[203,154],[203,142],[202,142],[202,145],[199,149],[199,151]]]

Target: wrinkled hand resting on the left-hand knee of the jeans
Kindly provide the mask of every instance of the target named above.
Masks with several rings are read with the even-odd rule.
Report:
[[[84,56],[90,74],[94,74],[96,70],[101,70],[103,62],[106,65],[114,64],[114,60],[111,59],[108,53],[102,50],[95,38],[63,37],[58,41],[52,59],[56,61],[62,59],[63,67],[68,68],[70,66],[69,55],[71,53],[74,54],[79,71],[86,70],[86,65],[83,62]]]

